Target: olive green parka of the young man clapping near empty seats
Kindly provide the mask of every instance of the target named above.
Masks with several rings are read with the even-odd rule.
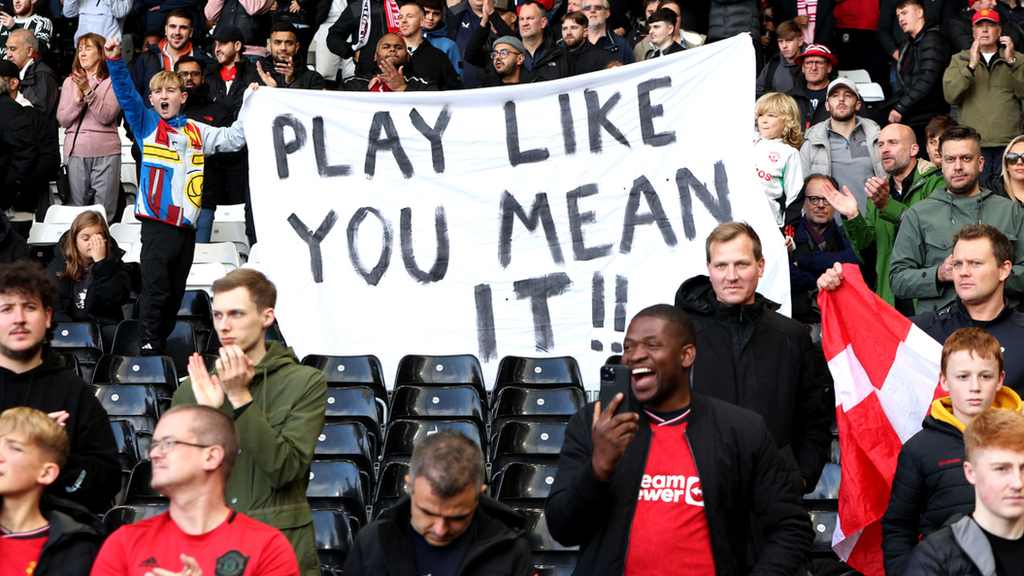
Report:
[[[309,462],[324,430],[327,378],[302,366],[292,348],[268,342],[249,385],[253,402],[234,420],[242,451],[224,491],[224,501],[244,515],[279,530],[307,525]],[[181,382],[172,406],[196,404],[191,381]],[[224,399],[220,411],[232,416]]]

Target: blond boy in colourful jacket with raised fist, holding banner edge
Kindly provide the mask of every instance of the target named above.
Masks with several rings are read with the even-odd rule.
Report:
[[[142,148],[135,200],[135,216],[142,222],[139,346],[142,355],[161,355],[174,330],[191,268],[205,155],[246,146],[245,114],[224,128],[188,120],[180,113],[188,95],[184,80],[166,71],[150,81],[153,110],[147,110],[132,84],[118,39],[109,39],[103,51],[118,104]]]

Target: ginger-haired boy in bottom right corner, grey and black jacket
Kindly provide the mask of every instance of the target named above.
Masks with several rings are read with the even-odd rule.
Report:
[[[961,474],[974,486],[974,511],[923,539],[904,574],[1014,574],[1024,565],[1024,416],[989,410],[964,434]]]

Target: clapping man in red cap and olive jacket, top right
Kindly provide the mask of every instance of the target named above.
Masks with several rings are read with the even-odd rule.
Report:
[[[961,124],[981,133],[985,165],[981,180],[1002,165],[1002,152],[1014,136],[1024,132],[1024,65],[1014,41],[1002,35],[999,13],[992,9],[974,13],[974,43],[954,54],[942,76],[946,101],[958,107]]]

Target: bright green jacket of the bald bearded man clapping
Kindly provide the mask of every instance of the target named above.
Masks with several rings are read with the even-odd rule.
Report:
[[[890,198],[886,209],[882,211],[868,202],[867,215],[858,214],[855,218],[843,219],[843,229],[846,230],[850,243],[857,250],[861,261],[866,261],[864,253],[873,248],[874,272],[878,276],[874,293],[891,306],[896,305],[896,298],[889,287],[889,260],[892,256],[893,243],[896,242],[900,219],[907,208],[928,198],[935,190],[946,186],[942,171],[927,160],[918,160],[912,175],[913,183],[903,193],[902,201]]]

